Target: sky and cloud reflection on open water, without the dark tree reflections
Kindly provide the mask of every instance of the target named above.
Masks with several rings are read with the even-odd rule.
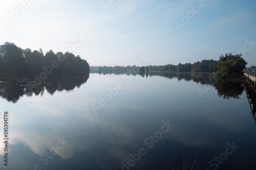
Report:
[[[63,84],[45,83],[44,88],[50,90],[44,96],[25,97],[15,104],[2,100],[0,107],[10,109],[12,115],[13,167],[9,168],[33,169],[39,164],[42,169],[121,169],[121,162],[127,163],[130,154],[143,147],[147,153],[131,169],[173,169],[169,149],[182,152],[183,139],[185,147],[191,143],[196,152],[198,143],[202,145],[195,166],[199,169],[212,169],[209,161],[225,152],[226,143],[232,141],[241,147],[219,169],[253,169],[252,163],[243,163],[253,162],[255,153],[255,125],[242,114],[249,110],[247,101],[219,98],[215,88],[201,99],[197,87],[211,84],[212,74],[148,74],[147,79],[130,75],[131,81],[126,82],[122,76],[92,74],[86,86],[51,95],[51,90],[65,89],[64,84],[74,79],[56,78],[52,81]],[[98,104],[99,96],[119,81],[124,88],[95,115],[91,105]],[[145,139],[155,136],[168,120],[175,126],[148,148]],[[56,148],[62,136],[69,143],[45,165],[38,158]]]

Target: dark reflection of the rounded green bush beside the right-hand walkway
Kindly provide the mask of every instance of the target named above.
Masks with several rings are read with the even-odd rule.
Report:
[[[215,88],[218,90],[218,96],[223,99],[240,99],[239,95],[244,91],[241,81],[217,81]]]

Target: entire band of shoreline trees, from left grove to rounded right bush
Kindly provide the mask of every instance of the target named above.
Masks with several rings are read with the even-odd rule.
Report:
[[[48,75],[55,74],[78,74],[99,72],[103,74],[112,74],[114,72],[137,72],[139,75],[148,74],[148,72],[197,72],[197,73],[215,73],[217,81],[229,81],[231,79],[240,79],[243,77],[243,70],[247,62],[242,58],[242,54],[233,55],[226,53],[221,55],[218,61],[202,60],[201,62],[185,63],[178,65],[150,65],[150,66],[91,66],[89,63],[75,56],[72,53],[62,52],[54,53],[52,50],[46,54],[39,51],[31,51],[29,48],[23,50],[14,43],[6,42],[0,45],[0,75],[16,74],[39,74],[46,72]]]

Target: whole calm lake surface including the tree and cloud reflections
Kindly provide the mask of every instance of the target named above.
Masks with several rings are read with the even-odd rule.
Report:
[[[213,76],[0,76],[0,169],[180,169],[191,145],[190,169],[199,143],[193,169],[255,169],[246,93]]]

